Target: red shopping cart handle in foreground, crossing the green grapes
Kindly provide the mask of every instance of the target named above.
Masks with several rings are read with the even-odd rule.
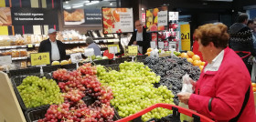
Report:
[[[178,109],[179,113],[185,114],[185,115],[187,115],[189,117],[193,117],[193,115],[194,116],[196,115],[197,117],[200,117],[200,121],[201,122],[214,122],[210,118],[202,116],[202,115],[198,114],[197,112],[195,112],[193,110],[190,110],[190,109],[187,109],[187,108],[183,108],[183,107],[178,107],[178,106],[175,106],[175,105],[170,105],[170,104],[162,104],[162,103],[155,104],[155,105],[153,105],[151,107],[147,107],[144,110],[142,110],[142,111],[140,111],[140,112],[138,112],[136,114],[133,114],[132,116],[123,117],[122,119],[119,119],[119,120],[117,120],[115,122],[128,122],[128,121],[131,121],[131,120],[133,120],[136,117],[143,116],[145,113],[155,109],[156,107],[163,107],[163,108],[166,108],[166,109],[169,109],[169,110],[172,110],[173,107],[176,107]]]

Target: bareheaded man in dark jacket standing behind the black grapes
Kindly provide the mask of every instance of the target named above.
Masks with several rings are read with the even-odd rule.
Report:
[[[146,30],[143,26],[143,23],[140,20],[136,20],[135,23],[136,30],[133,32],[133,36],[128,44],[131,45],[138,45],[139,52],[141,54],[145,54],[148,47],[150,47],[151,35],[146,33]]]

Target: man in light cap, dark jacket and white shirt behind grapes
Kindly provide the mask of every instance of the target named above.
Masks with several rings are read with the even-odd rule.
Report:
[[[38,53],[49,52],[51,61],[60,61],[66,59],[66,48],[64,44],[56,39],[57,31],[53,28],[48,30],[48,39],[40,43]]]

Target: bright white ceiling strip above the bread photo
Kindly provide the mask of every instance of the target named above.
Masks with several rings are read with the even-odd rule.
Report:
[[[99,2],[99,3],[97,3]],[[86,5],[88,3],[96,3],[92,5]],[[111,5],[112,3],[112,5]],[[102,0],[102,1],[95,1],[92,0],[91,2],[89,0],[69,0],[68,3],[63,2],[63,8],[64,9],[77,9],[77,8],[82,8],[82,9],[101,9],[102,6],[116,6],[116,0]]]

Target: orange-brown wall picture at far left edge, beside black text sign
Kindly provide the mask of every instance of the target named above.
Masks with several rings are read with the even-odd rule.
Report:
[[[12,25],[10,7],[0,7],[0,25]]]

